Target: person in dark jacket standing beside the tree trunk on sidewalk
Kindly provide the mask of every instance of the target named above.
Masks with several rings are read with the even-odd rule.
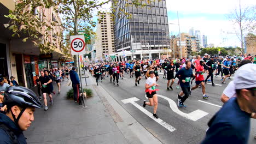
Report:
[[[77,74],[77,68],[73,67],[71,71],[69,71],[70,79],[72,81],[72,88],[74,91],[74,101],[77,103],[79,98],[79,88],[80,88],[80,79]]]

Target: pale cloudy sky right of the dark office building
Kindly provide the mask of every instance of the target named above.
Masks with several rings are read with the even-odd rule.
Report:
[[[158,0],[155,0],[158,1]],[[256,5],[255,0],[240,1],[242,7]],[[170,34],[177,35],[178,19],[181,33],[188,33],[190,28],[199,30],[201,35],[207,36],[207,44],[214,46],[240,46],[240,40],[234,31],[234,26],[226,18],[239,4],[239,0],[166,0],[168,23]],[[104,5],[103,8],[109,8],[110,4]]]

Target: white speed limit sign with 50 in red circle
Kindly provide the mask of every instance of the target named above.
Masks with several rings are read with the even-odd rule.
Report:
[[[85,52],[85,42],[84,35],[72,35],[71,40],[71,55],[84,55]]]

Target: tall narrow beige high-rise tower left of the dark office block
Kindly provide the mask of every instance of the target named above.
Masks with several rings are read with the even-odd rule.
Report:
[[[98,19],[101,19],[101,22],[97,23],[96,29],[96,58],[104,59],[106,55],[115,52],[113,21],[110,13],[101,13]]]

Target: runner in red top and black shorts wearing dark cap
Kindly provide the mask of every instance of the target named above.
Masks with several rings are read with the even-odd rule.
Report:
[[[191,90],[189,91],[189,94],[191,95],[191,91],[198,88],[199,85],[201,84],[203,99],[206,99],[206,98],[208,98],[208,96],[205,94],[205,81],[204,81],[204,78],[203,78],[203,73],[205,73],[205,70],[203,69],[204,64],[205,64],[205,61],[203,61],[203,59],[200,59],[200,65],[196,66],[196,74],[195,74],[196,85],[193,88],[191,88]]]

